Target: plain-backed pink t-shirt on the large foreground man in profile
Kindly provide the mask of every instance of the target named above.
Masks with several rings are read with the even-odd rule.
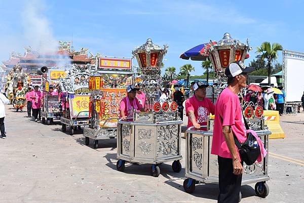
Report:
[[[236,135],[240,143],[245,142],[246,128],[240,100],[239,97],[228,88],[225,88],[221,92],[216,101],[211,154],[216,154],[224,158],[232,158],[222,133],[222,126],[231,126],[233,134]]]

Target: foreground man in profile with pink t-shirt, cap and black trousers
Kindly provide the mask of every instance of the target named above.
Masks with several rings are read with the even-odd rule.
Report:
[[[225,69],[228,86],[220,93],[215,105],[211,154],[218,158],[219,194],[217,202],[238,202],[243,173],[243,161],[235,145],[234,135],[244,143],[246,128],[238,93],[246,88],[247,73],[242,61],[231,63]]]

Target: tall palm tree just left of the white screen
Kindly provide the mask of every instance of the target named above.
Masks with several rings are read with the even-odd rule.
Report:
[[[260,48],[256,48],[256,53],[261,53],[261,59],[268,60],[268,85],[271,85],[271,62],[278,58],[278,51],[282,51],[283,47],[279,43],[274,43],[272,46],[269,42],[263,42]]]

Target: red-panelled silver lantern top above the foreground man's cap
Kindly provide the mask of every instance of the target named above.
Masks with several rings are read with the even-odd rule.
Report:
[[[216,44],[210,41],[210,49],[208,50],[209,58],[212,62],[215,72],[225,72],[225,67],[234,61],[244,62],[247,51],[250,51],[247,39],[247,45],[241,43],[240,40],[233,39],[230,33],[224,33],[224,36]]]

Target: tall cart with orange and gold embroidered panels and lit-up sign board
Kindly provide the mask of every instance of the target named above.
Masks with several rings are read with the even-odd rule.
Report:
[[[117,137],[119,103],[127,95],[126,87],[133,83],[131,59],[97,57],[96,73],[89,80],[91,123],[84,128],[86,145],[93,140],[98,148],[99,141]]]

